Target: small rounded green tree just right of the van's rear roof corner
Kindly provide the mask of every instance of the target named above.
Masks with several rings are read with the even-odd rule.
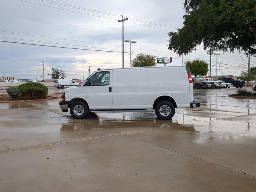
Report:
[[[193,60],[185,62],[185,65],[190,69],[191,74],[196,76],[204,76],[208,72],[208,63],[202,60]]]

